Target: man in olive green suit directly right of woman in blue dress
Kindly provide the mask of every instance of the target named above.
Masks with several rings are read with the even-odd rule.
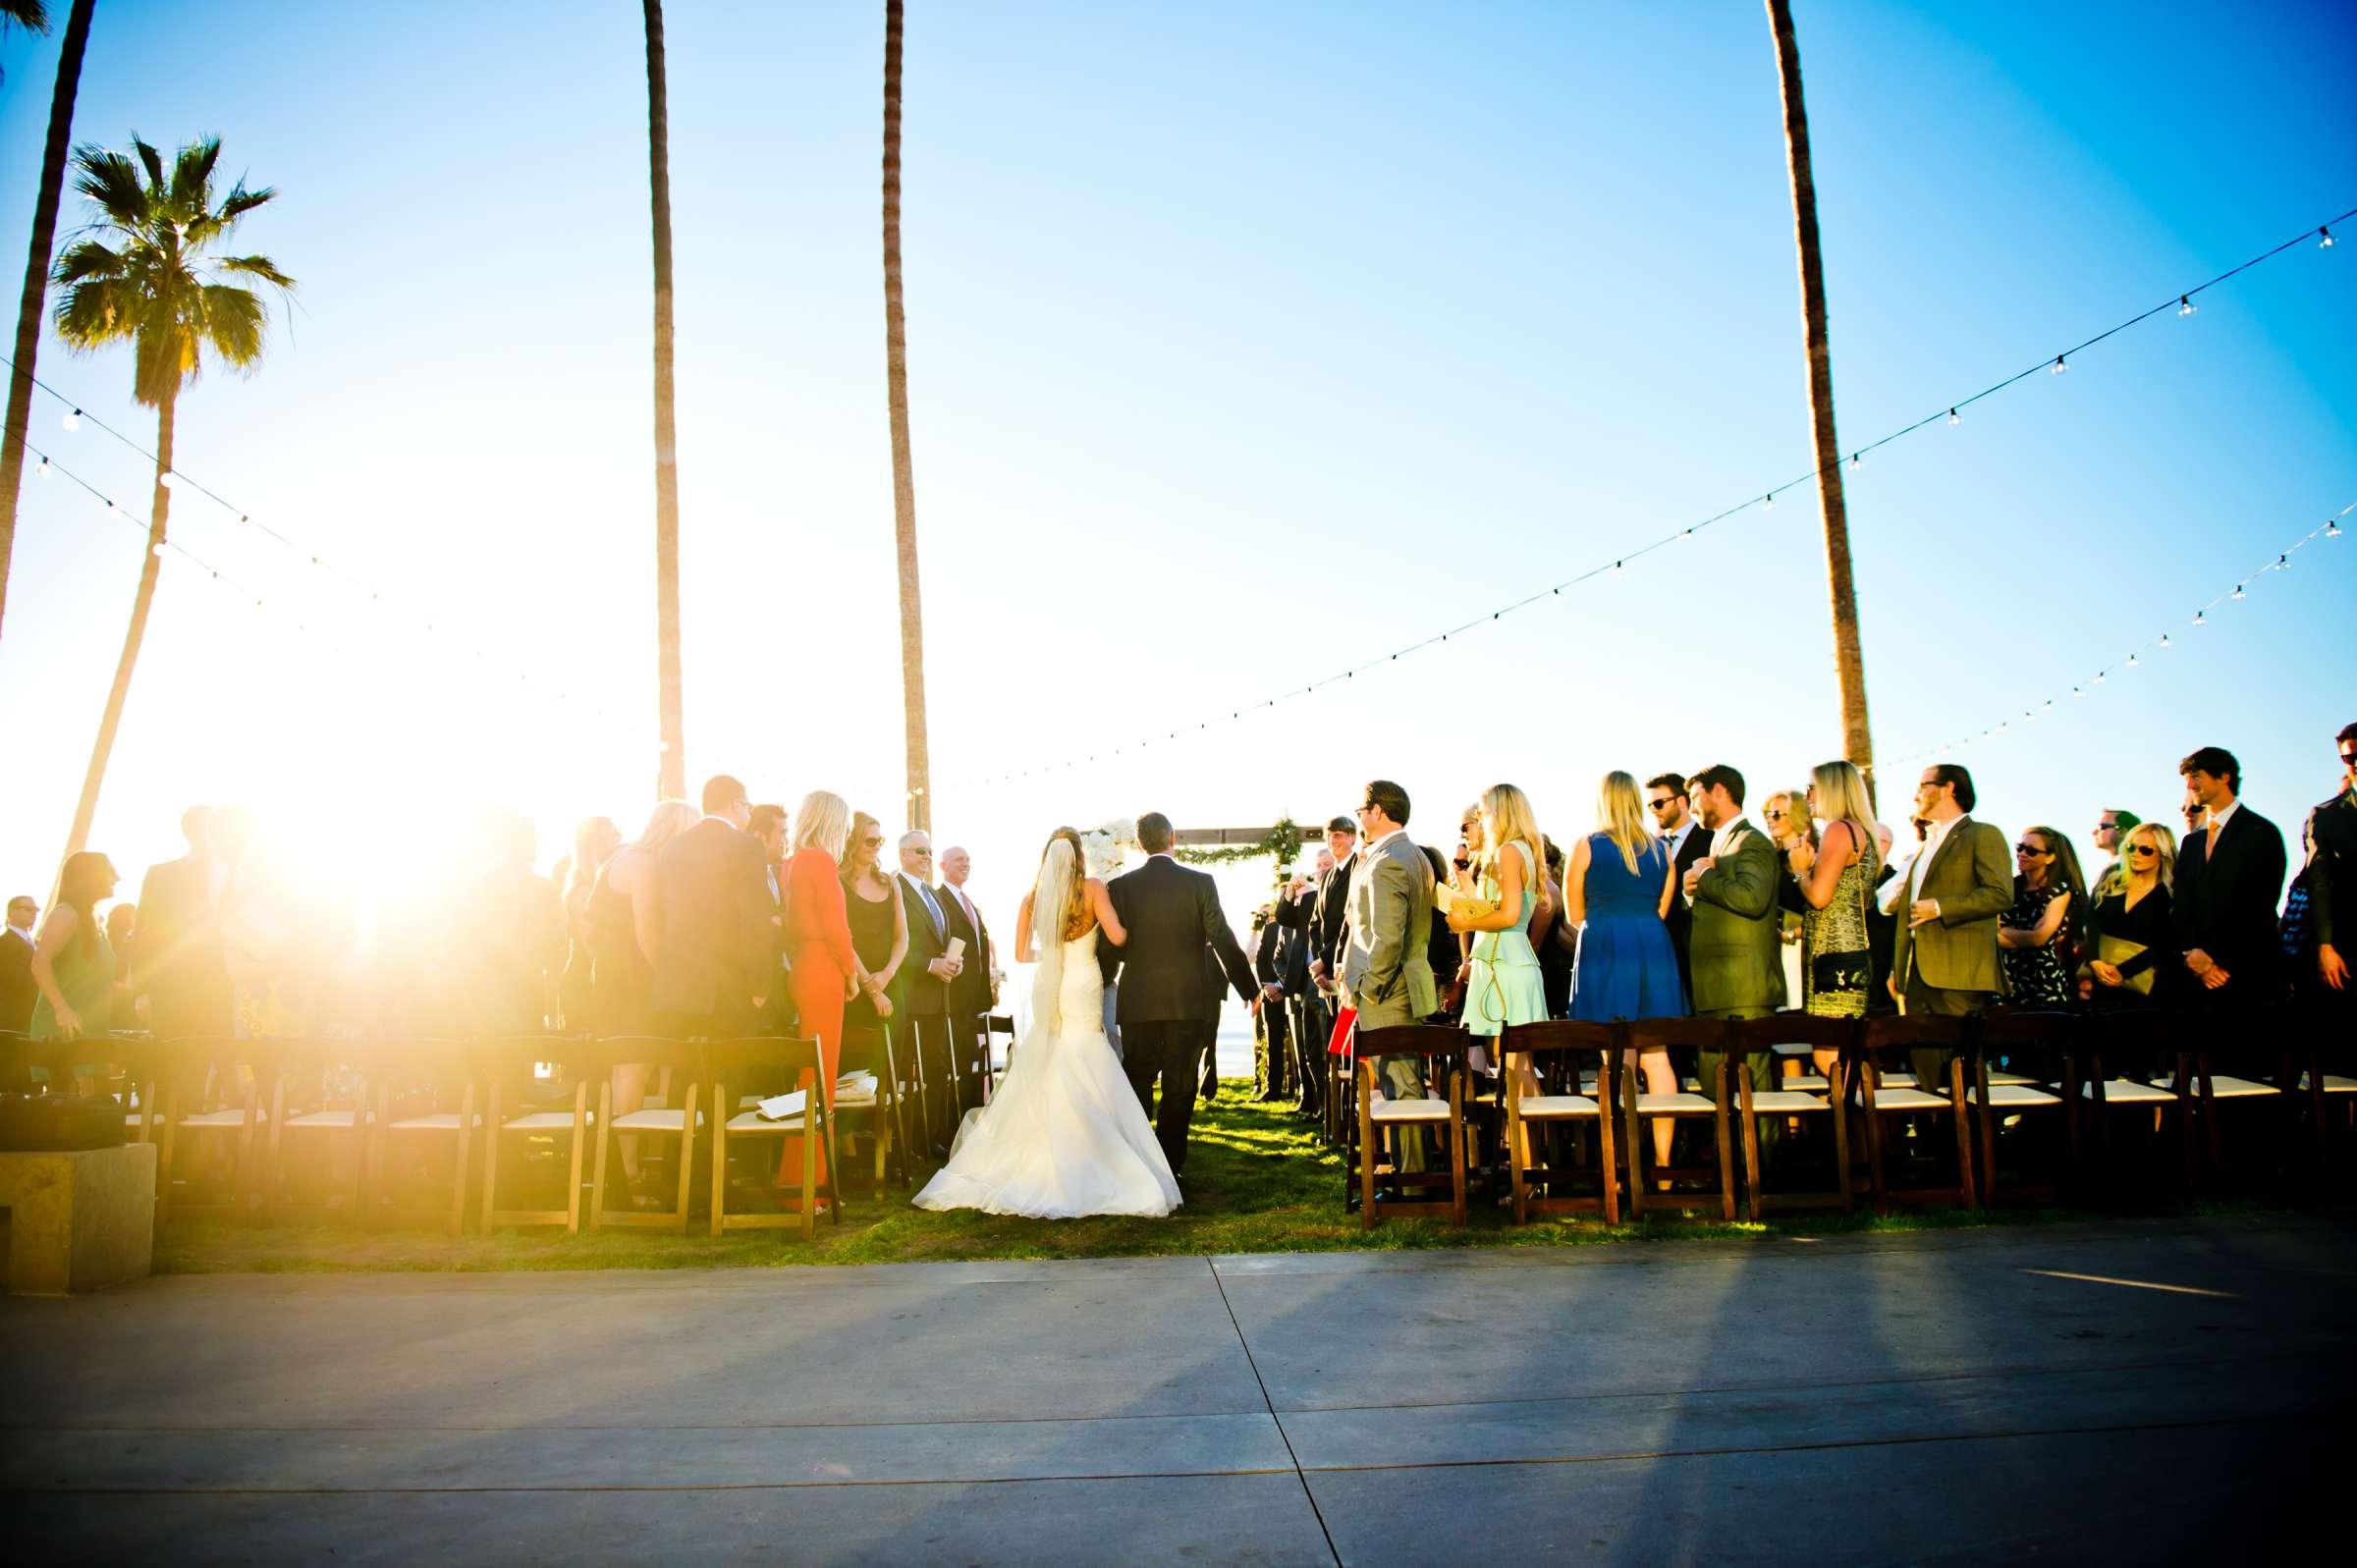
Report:
[[[1695,905],[1688,953],[1695,967],[1697,1019],[1765,1019],[1784,1004],[1784,913],[1777,908],[1777,858],[1768,835],[1744,821],[1744,776],[1728,764],[1709,766],[1688,780],[1695,818],[1711,830],[1711,854],[1685,872],[1685,896]],[[1697,1052],[1702,1092],[1718,1085],[1721,1052]],[[1751,1089],[1775,1087],[1775,1063],[1761,1054],[1747,1059]],[[1761,1144],[1772,1144],[1780,1127],[1763,1120]]]

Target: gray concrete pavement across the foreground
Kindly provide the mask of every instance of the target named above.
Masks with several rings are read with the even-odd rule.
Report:
[[[0,1488],[35,1561],[2249,1554],[2352,1285],[2329,1217],[160,1278],[0,1302]]]

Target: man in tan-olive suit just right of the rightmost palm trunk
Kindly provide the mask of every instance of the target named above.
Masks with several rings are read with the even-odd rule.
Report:
[[[1893,903],[1900,929],[1890,948],[1890,995],[1909,1016],[1975,1014],[2006,988],[1996,962],[1996,917],[2013,903],[2013,861],[2006,835],[1975,823],[1970,811],[1970,773],[1952,762],[1923,769],[1914,813],[1930,830]],[[1954,1052],[1919,1049],[1912,1056],[1919,1089],[1947,1089]]]

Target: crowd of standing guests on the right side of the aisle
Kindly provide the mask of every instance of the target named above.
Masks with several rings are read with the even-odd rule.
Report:
[[[1570,851],[1541,832],[1530,797],[1501,783],[1466,806],[1452,856],[1421,846],[1426,875],[1405,894],[1412,934],[1386,962],[1433,976],[1433,1007],[1414,1016],[1490,1037],[1541,1019],[1975,1014],[2001,1000],[2220,1014],[2298,1000],[2319,1026],[2345,1030],[2350,981],[2333,917],[2336,891],[2343,905],[2357,896],[2357,724],[2336,743],[2341,788],[2308,813],[2289,896],[2284,835],[2239,802],[2242,764],[2216,745],[2178,764],[2183,839],[2133,811],[2102,811],[2093,837],[2112,861],[2093,882],[2053,825],[2025,828],[2008,849],[1973,816],[1973,776],[1954,764],[1916,778],[1904,846],[1848,762],[1770,792],[1758,823],[1744,776],[1725,764],[1643,785],[1605,773],[1596,825]],[[1360,1000],[1346,953],[1372,920],[1362,821],[1376,797],[1388,799],[1379,823],[1407,825],[1405,792],[1367,785],[1358,821],[1327,823],[1315,877],[1287,882],[1256,917],[1263,995],[1282,1002],[1261,1009],[1263,1096],[1315,1106],[1318,1063]],[[2223,1068],[2244,1059],[2239,1035],[2218,1047]],[[1685,1063],[1645,1054],[1631,1066],[1648,1089],[1669,1092]],[[1711,1085],[1716,1063],[1690,1066]],[[1942,1052],[1919,1052],[1912,1066],[1923,1085],[1947,1073]],[[1749,1070],[1770,1087],[1765,1059]],[[1421,1092],[1412,1061],[1384,1073]],[[1662,1158],[1669,1134],[1662,1122]]]

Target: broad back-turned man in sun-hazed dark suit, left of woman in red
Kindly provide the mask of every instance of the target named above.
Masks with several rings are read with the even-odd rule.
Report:
[[[655,1016],[681,1040],[728,1040],[761,1028],[773,990],[768,879],[745,828],[752,802],[726,773],[705,783],[705,821],[662,846],[655,889]]]

